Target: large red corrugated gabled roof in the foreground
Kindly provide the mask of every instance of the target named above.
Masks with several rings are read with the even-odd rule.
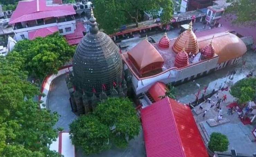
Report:
[[[188,106],[164,98],[141,110],[147,157],[208,157]]]

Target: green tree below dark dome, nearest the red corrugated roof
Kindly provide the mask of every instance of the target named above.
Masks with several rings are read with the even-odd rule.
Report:
[[[110,137],[117,147],[127,147],[128,140],[139,134],[140,122],[128,98],[108,98],[97,105],[94,114],[109,127]]]

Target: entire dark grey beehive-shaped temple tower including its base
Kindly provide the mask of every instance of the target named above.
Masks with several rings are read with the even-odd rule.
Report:
[[[126,96],[119,49],[112,39],[99,31],[91,9],[90,32],[77,45],[73,71],[67,75],[72,111],[78,115],[93,110],[108,96]]]

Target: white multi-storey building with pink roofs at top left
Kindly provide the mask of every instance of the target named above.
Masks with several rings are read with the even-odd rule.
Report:
[[[16,40],[45,37],[56,31],[61,35],[74,33],[76,21],[72,5],[47,6],[46,0],[19,1],[12,13],[12,25]]]

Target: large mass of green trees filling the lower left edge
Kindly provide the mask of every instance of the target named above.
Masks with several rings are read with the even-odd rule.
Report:
[[[39,109],[39,89],[27,81],[25,61],[17,52],[0,57],[0,156],[58,156],[48,145],[56,139],[58,114]]]

